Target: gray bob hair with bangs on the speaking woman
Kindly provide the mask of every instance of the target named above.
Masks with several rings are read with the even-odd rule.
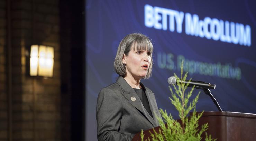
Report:
[[[118,49],[117,49],[117,55],[114,62],[114,68],[117,74],[121,75],[122,77],[125,77],[127,75],[125,65],[122,63],[122,59],[124,54],[128,56],[129,51],[131,50],[131,47],[135,50],[147,50],[151,54],[153,53],[153,45],[150,41],[150,39],[141,34],[141,33],[132,33],[124,37],[122,41],[120,42]],[[152,55],[151,55],[152,60]],[[144,79],[148,79],[151,76],[152,72],[152,64],[153,61],[151,61],[150,66],[148,68],[147,75],[144,77]]]

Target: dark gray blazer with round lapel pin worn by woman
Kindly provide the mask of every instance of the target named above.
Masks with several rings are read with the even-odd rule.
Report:
[[[97,99],[97,138],[99,141],[131,141],[134,135],[159,126],[161,118],[153,92],[145,89],[153,118],[144,108],[136,92],[119,76],[116,83],[101,89]],[[132,101],[131,97],[136,100]],[[134,100],[134,99],[133,99]],[[162,120],[162,118],[161,118]]]

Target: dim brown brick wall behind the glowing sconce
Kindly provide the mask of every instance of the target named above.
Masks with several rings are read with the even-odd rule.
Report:
[[[63,100],[69,107],[70,90],[64,92],[63,98],[58,2],[11,0],[12,111],[8,111],[7,0],[0,0],[0,141],[9,138],[9,112],[12,113],[13,140],[70,139],[69,109],[65,111],[62,108]],[[53,78],[28,76],[28,56],[32,44],[54,47]],[[65,50],[68,47],[62,52]],[[62,66],[65,69],[63,67],[68,70],[69,64]],[[65,84],[67,87],[70,85],[68,79]],[[66,130],[63,130],[63,125]]]

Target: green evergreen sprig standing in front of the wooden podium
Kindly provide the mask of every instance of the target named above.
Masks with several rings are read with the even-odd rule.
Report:
[[[171,91],[171,97],[169,97],[169,99],[179,112],[179,117],[182,123],[180,124],[177,120],[174,120],[172,115],[168,115],[166,110],[159,109],[163,120],[160,117],[157,118],[161,129],[159,129],[159,133],[156,133],[154,129],[153,133],[150,132],[152,141],[200,141],[202,140],[201,136],[203,132],[208,129],[207,123],[202,125],[201,130],[198,128],[199,118],[204,112],[196,113],[196,104],[199,100],[200,92],[196,95],[192,102],[189,102],[195,86],[193,86],[188,93],[185,93],[189,83],[183,83],[188,76],[188,72],[186,72],[183,76],[183,63],[184,61],[182,61],[181,65],[181,77],[179,78],[174,73],[174,77],[177,79],[177,86],[172,85],[174,90],[169,86]],[[191,81],[191,79],[189,79],[189,81]],[[192,115],[188,117],[191,110],[193,110]],[[212,139],[211,135],[208,136],[207,133],[205,134],[206,141],[216,140]],[[143,132],[141,133],[141,137],[141,139],[144,140]],[[149,138],[148,141],[150,141]]]

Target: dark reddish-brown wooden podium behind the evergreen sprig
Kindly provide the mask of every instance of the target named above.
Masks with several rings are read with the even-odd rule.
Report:
[[[256,141],[256,114],[238,112],[204,112],[199,119],[199,127],[208,123],[206,131],[217,141]],[[159,126],[155,127],[159,131]],[[144,131],[144,139],[150,138],[151,131]],[[203,140],[204,140],[203,133]],[[141,141],[140,133],[137,133],[132,141]]]

